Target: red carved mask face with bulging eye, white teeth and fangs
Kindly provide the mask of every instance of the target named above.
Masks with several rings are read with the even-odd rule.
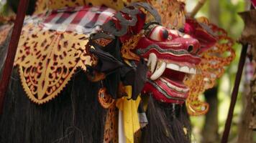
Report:
[[[134,51],[149,66],[142,93],[161,102],[182,104],[189,91],[183,82],[196,74],[200,49],[198,40],[188,34],[156,24],[148,26]]]

